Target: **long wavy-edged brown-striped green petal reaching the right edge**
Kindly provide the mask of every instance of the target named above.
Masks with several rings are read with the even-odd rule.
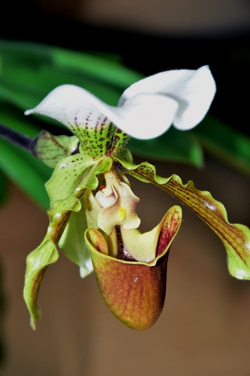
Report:
[[[132,165],[119,160],[126,172],[143,182],[157,185],[196,213],[225,246],[229,273],[238,279],[250,279],[250,232],[244,225],[230,224],[224,206],[207,191],[199,191],[192,181],[183,184],[178,175],[160,177],[147,162]]]

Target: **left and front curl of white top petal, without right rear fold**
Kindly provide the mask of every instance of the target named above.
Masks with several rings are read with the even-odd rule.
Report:
[[[157,137],[171,125],[177,102],[166,96],[138,94],[122,107],[100,101],[88,91],[74,85],[62,85],[51,91],[25,115],[39,113],[50,116],[73,129],[95,126],[107,117],[129,135],[147,139]]]

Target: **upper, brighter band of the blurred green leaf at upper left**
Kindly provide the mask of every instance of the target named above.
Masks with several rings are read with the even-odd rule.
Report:
[[[2,60],[14,62],[15,65],[30,66],[35,70],[43,65],[55,69],[88,76],[112,86],[125,89],[143,76],[128,69],[120,62],[120,57],[100,53],[86,53],[61,49],[29,42],[0,41]],[[42,84],[42,82],[41,82]]]

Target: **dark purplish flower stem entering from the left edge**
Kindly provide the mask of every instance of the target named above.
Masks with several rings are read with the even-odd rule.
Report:
[[[3,124],[0,124],[0,136],[14,143],[15,145],[22,147],[34,155],[34,145],[36,137],[31,138],[24,136],[23,134],[16,132],[13,129],[9,129]]]

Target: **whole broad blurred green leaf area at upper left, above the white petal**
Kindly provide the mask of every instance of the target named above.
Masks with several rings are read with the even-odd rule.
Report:
[[[28,43],[0,42],[0,66],[0,97],[21,109],[65,83],[115,105],[121,89],[142,78],[110,59]]]

